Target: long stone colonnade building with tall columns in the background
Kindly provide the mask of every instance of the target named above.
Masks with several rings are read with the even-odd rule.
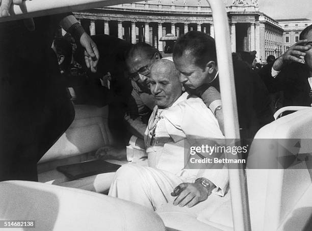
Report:
[[[257,0],[228,0],[226,6],[232,52],[257,51],[265,60],[282,47],[282,28],[259,12]],[[152,0],[74,12],[90,35],[107,34],[126,41],[146,42],[164,50],[160,40],[199,30],[214,37],[212,11],[206,1]],[[277,48],[277,49],[276,49]],[[271,54],[271,53],[270,53]]]

